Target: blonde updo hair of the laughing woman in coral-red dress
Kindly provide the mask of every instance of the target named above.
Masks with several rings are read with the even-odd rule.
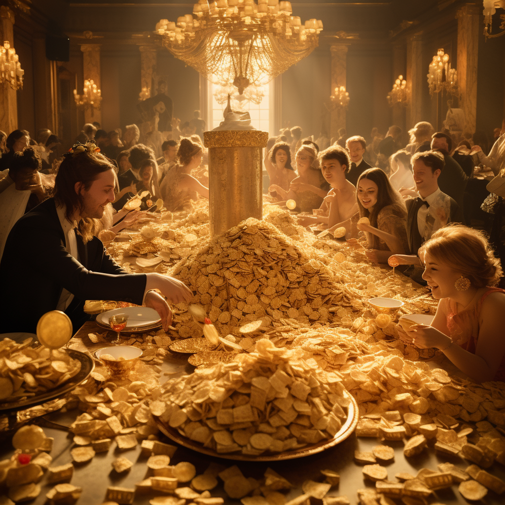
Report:
[[[474,288],[494,286],[503,273],[484,234],[463,225],[437,230],[421,245],[422,253],[461,272]]]

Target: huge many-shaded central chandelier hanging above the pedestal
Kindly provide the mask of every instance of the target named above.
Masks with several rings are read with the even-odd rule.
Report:
[[[302,25],[291,16],[291,3],[279,0],[199,0],[193,14],[177,23],[160,20],[159,42],[215,84],[233,84],[240,95],[308,56],[323,29],[316,19]]]

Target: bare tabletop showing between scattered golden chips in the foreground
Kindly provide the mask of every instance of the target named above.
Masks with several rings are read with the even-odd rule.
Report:
[[[94,344],[91,340],[89,340],[87,336],[88,333],[94,331],[101,333],[104,330],[96,326],[95,323],[86,323],[72,338],[69,346],[77,350],[89,351],[91,354],[98,348],[106,346],[103,342]],[[176,358],[173,356],[168,357],[164,361],[163,365],[161,365],[161,368],[162,381],[167,378],[167,376],[163,375],[163,372],[165,371],[171,372],[170,377],[174,377],[191,373],[193,370],[193,367],[187,363],[186,359]],[[75,420],[78,414],[79,412],[77,410],[70,411],[68,413],[57,411],[44,416],[43,420],[45,419],[53,423],[68,426]],[[70,463],[72,461],[70,450],[74,446],[72,441],[73,434],[68,433],[63,429],[60,430],[47,427],[43,427],[43,429],[47,436],[54,437],[55,439],[53,450],[51,452],[51,456],[53,458],[51,466]],[[163,435],[161,435],[161,437],[161,439],[165,442],[174,443],[171,440],[165,439]],[[324,452],[320,452],[306,458],[287,460],[278,463],[234,462],[209,457],[191,451],[190,449],[179,447],[170,464],[177,464],[181,461],[189,461],[195,465],[198,474],[203,473],[211,463],[218,463],[224,467],[236,464],[245,477],[255,477],[257,479],[260,479],[265,470],[270,467],[293,484],[293,489],[287,493],[287,499],[291,499],[298,494],[301,494],[301,483],[307,479],[322,482],[324,477],[320,473],[321,470],[334,470],[340,474],[340,484],[338,487],[333,487],[329,491],[328,496],[347,495],[350,503],[355,504],[358,503],[357,489],[373,489],[375,488],[375,484],[370,481],[364,481],[362,467],[354,463],[354,451],[371,451],[373,446],[381,443],[394,448],[394,462],[385,465],[388,470],[388,478],[392,481],[395,480],[394,475],[397,472],[410,472],[415,475],[421,468],[429,468],[436,471],[436,466],[446,461],[450,461],[462,469],[465,469],[469,465],[469,463],[459,457],[450,458],[445,455],[440,456],[435,453],[431,447],[428,447],[428,449],[420,456],[407,459],[403,456],[403,442],[381,442],[378,439],[373,438],[358,438],[355,434],[352,434],[348,439]],[[8,443],[3,443],[0,447],[0,458],[8,458],[11,454],[12,447],[9,440]],[[134,465],[129,472],[117,474],[112,471],[111,464],[119,456],[124,456],[134,462]],[[77,501],[77,504],[98,505],[102,503],[105,501],[106,490],[110,485],[134,488],[136,482],[139,482],[151,475],[149,473],[150,470],[146,466],[146,461],[147,458],[140,454],[140,444],[133,449],[119,451],[116,444],[113,442],[108,452],[97,453],[97,455],[89,463],[84,465],[74,464],[75,471],[71,483],[83,488],[81,497]],[[488,471],[492,474],[500,478],[505,478],[505,472],[503,470],[504,468],[497,463],[495,463],[491,469],[488,469]],[[34,501],[30,502],[34,505],[42,505],[45,503],[45,494],[53,486],[51,484],[46,484],[45,476],[40,481],[40,485],[42,486],[42,492]],[[149,502],[150,498],[160,494],[163,493],[155,492],[153,494],[137,495],[134,503],[138,505],[146,504]],[[221,481],[218,487],[211,491],[211,494],[212,496],[224,497],[226,503],[233,503],[237,505],[239,503],[238,500],[232,500],[226,497]],[[502,504],[503,499],[503,496],[499,497],[489,491],[484,502],[487,505],[498,503]],[[436,491],[430,501],[446,503],[447,505],[468,503],[458,492],[457,485],[453,485],[449,489]]]

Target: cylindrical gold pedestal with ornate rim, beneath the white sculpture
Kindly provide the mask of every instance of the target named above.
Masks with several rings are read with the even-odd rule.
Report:
[[[247,218],[263,219],[263,147],[268,132],[206,131],[211,238]]]

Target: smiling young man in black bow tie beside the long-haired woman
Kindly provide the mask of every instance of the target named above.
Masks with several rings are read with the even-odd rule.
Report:
[[[410,255],[395,255],[400,265],[421,267],[418,250],[431,235],[448,223],[461,223],[461,209],[450,196],[442,193],[438,187],[438,177],[445,166],[443,155],[438,151],[416,153],[412,159],[414,182],[417,196],[408,198],[407,237]],[[406,272],[417,282],[425,284],[418,269]]]

